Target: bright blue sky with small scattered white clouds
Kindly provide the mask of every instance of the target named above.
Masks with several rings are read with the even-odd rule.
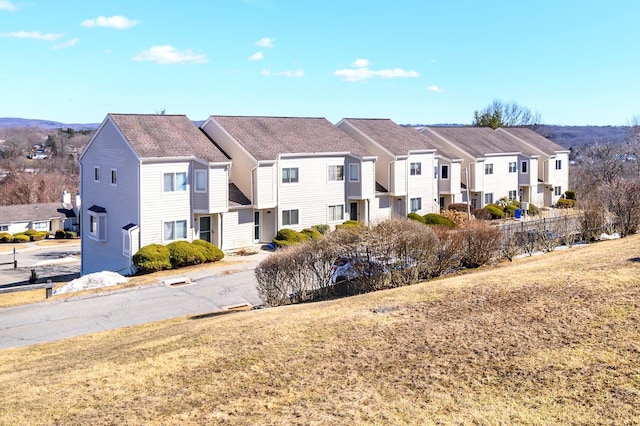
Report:
[[[0,0],[0,117],[640,114],[640,2]]]

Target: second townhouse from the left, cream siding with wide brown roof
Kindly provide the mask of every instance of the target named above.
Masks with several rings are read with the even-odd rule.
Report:
[[[375,157],[326,119],[211,116],[202,130],[233,158],[231,181],[254,209],[251,227],[234,220],[225,233],[267,242],[282,228],[368,223]]]

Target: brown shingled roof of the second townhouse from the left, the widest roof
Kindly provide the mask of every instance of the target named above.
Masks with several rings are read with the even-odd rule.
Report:
[[[211,116],[256,160],[276,160],[280,154],[367,150],[326,118]]]

